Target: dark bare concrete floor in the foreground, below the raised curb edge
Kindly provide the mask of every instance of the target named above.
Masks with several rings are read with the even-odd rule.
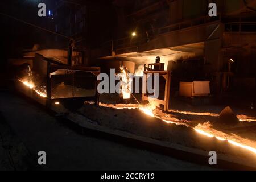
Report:
[[[0,91],[0,170],[211,170],[170,156],[80,134],[38,105]],[[46,151],[47,165],[37,163]]]

